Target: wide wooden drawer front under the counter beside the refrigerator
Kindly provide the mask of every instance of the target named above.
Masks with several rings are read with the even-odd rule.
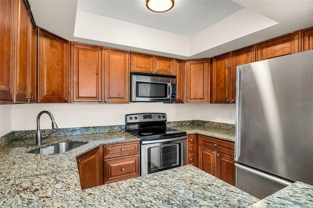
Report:
[[[230,141],[223,141],[199,135],[199,145],[218,150],[220,152],[234,155],[235,144]]]

